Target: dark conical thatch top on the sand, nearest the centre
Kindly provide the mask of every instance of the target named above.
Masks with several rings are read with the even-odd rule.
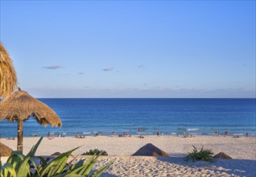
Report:
[[[147,143],[147,145],[142,146],[138,151],[136,151],[134,156],[154,156],[154,157],[169,157],[169,155],[160,150],[158,147],[154,146],[151,143]]]

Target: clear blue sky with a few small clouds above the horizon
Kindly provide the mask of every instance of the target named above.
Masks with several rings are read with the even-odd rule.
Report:
[[[254,1],[1,1],[34,97],[255,97]]]

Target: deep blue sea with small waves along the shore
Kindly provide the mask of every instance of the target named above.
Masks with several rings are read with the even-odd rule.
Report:
[[[24,137],[47,132],[75,136],[116,134],[220,134],[255,136],[256,99],[39,99],[63,126],[24,122]],[[141,128],[142,131],[137,129]],[[17,137],[17,122],[0,121],[2,137]]]

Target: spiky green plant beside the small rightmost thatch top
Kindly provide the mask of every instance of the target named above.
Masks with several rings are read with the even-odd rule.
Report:
[[[188,162],[188,160],[192,159],[193,162],[197,160],[207,161],[210,163],[214,162],[215,159],[213,158],[213,150],[204,149],[204,146],[202,146],[200,151],[196,150],[195,146],[193,146],[193,148],[193,151],[184,157],[185,161]]]

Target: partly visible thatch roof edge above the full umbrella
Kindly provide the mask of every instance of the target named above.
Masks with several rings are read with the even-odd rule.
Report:
[[[14,66],[8,51],[0,43],[0,97],[5,98],[10,96],[16,86],[17,76]]]

